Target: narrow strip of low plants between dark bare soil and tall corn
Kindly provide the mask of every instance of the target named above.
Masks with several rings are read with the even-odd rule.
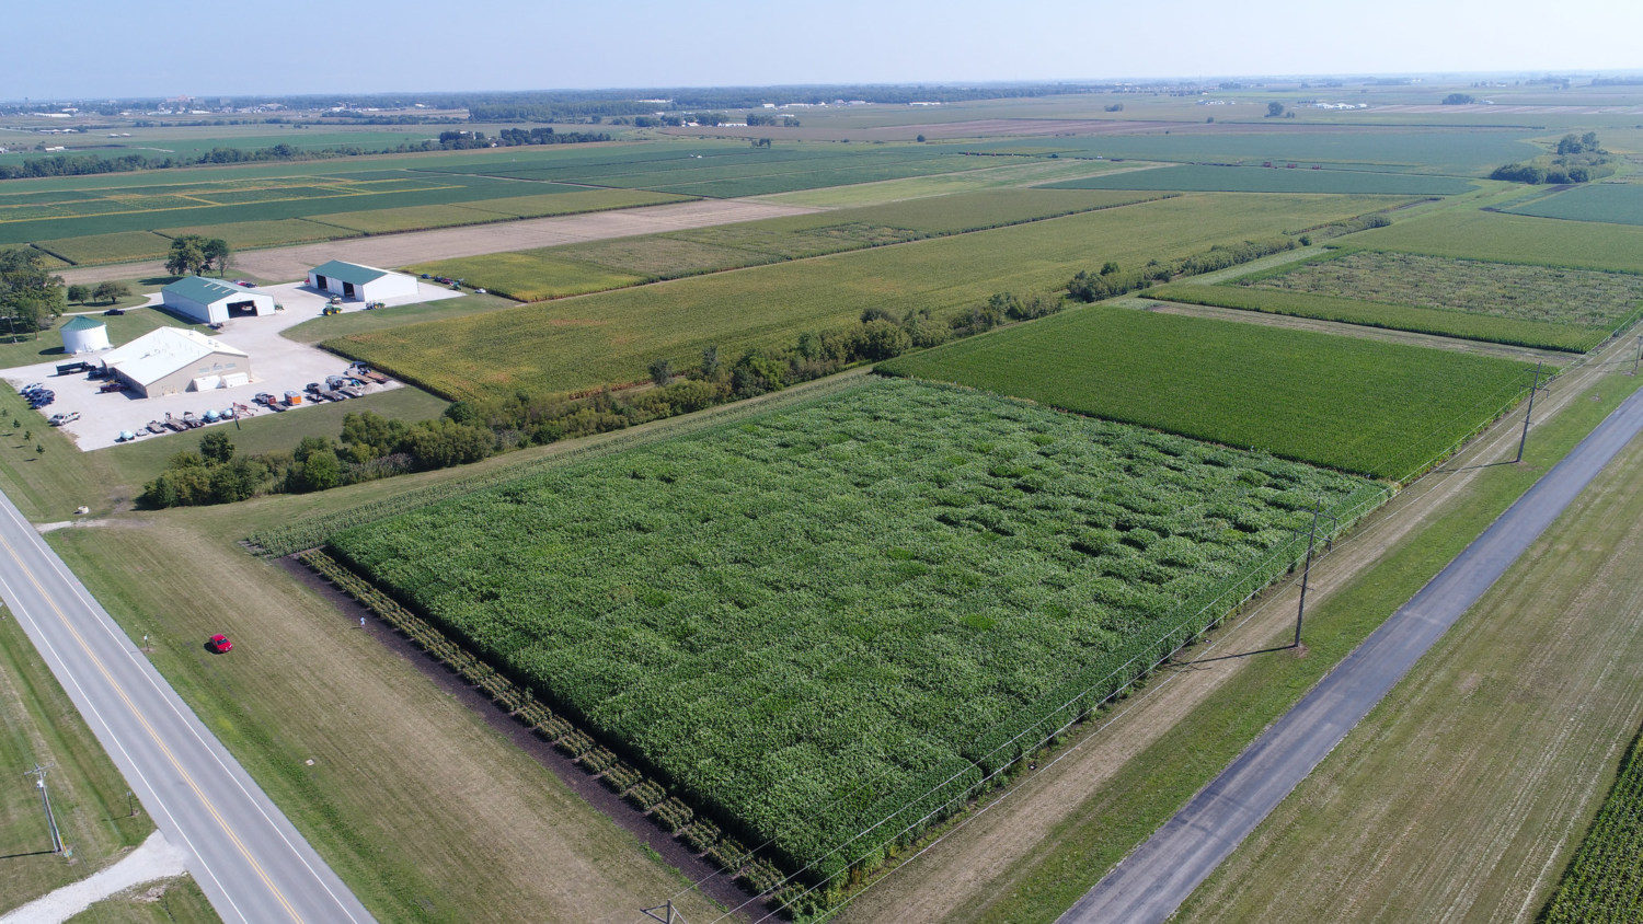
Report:
[[[513,719],[529,727],[537,737],[552,743],[557,750],[582,765],[582,768],[600,780],[606,788],[623,796],[633,807],[646,812],[652,822],[679,834],[692,850],[706,853],[731,876],[757,878],[767,875],[766,870],[744,870],[752,857],[738,844],[721,844],[718,829],[711,822],[693,826],[695,812],[670,796],[667,789],[641,771],[623,763],[610,748],[600,747],[587,732],[577,729],[564,716],[557,716],[545,704],[537,701],[534,691],[521,686],[495,668],[473,656],[462,645],[447,638],[439,629],[414,612],[399,606],[393,597],[376,589],[370,581],[360,578],[322,550],[309,550],[297,555],[297,560],[315,574],[329,581],[343,594],[348,594],[360,606],[371,611],[383,622],[391,625],[399,635],[427,652],[430,658],[449,666],[462,679],[483,691],[496,706],[504,709]],[[690,829],[690,837],[683,832]],[[711,832],[711,837],[708,835]],[[728,860],[728,862],[726,862]],[[767,863],[766,863],[767,865]],[[762,890],[756,890],[762,891]]]

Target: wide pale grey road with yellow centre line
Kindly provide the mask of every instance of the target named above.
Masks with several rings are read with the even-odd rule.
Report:
[[[371,919],[3,496],[0,596],[223,921]]]

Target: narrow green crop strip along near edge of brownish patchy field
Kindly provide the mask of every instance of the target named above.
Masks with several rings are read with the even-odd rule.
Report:
[[[1341,295],[1313,295],[1306,292],[1285,292],[1250,286],[1198,286],[1193,282],[1178,282],[1147,289],[1142,295],[1145,299],[1185,302],[1190,305],[1216,305],[1245,312],[1331,320],[1387,330],[1408,330],[1413,333],[1433,333],[1459,340],[1480,340],[1487,343],[1510,343],[1515,346],[1561,350],[1564,353],[1585,353],[1608,336],[1607,330],[1594,330],[1569,323],[1531,322],[1485,313],[1421,309],[1415,305],[1390,305],[1383,302],[1365,302],[1362,299],[1346,299]]]

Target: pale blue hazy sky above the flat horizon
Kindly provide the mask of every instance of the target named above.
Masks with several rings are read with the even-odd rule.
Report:
[[[0,98],[12,100],[1643,72],[1640,0],[77,0],[15,7],[7,13],[13,41],[0,53]],[[1548,21],[1553,16],[1556,23]]]

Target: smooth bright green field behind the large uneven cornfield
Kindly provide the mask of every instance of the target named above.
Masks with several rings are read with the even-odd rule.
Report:
[[[1405,479],[1515,404],[1533,366],[1098,305],[879,369]]]

